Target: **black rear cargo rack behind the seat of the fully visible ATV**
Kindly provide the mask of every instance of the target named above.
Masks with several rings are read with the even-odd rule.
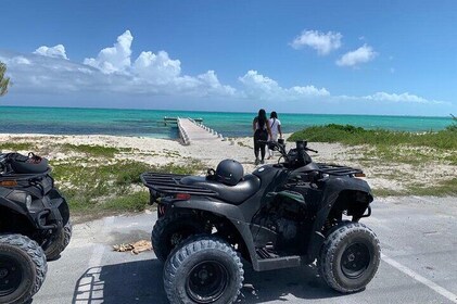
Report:
[[[145,187],[162,194],[186,193],[191,195],[217,197],[216,191],[198,187],[182,185],[180,181],[189,175],[163,174],[163,173],[143,173],[140,178]]]

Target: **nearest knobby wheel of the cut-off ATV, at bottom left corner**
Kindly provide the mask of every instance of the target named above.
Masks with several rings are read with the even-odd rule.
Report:
[[[22,235],[0,236],[0,303],[25,303],[45,281],[48,264],[37,242]]]

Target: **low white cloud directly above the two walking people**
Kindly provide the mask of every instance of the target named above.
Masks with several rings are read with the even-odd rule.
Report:
[[[247,97],[259,100],[291,101],[330,96],[327,89],[314,86],[282,88],[276,80],[252,69],[239,80]]]

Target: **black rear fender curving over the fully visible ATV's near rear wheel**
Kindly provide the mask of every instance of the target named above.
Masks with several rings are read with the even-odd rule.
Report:
[[[190,208],[200,210],[213,213],[230,220],[237,228],[241,238],[243,238],[244,244],[247,248],[254,269],[257,265],[257,256],[255,253],[254,240],[250,229],[250,223],[246,223],[243,214],[237,205],[231,205],[218,201],[208,200],[189,200],[189,201],[175,201],[170,203],[172,208]]]

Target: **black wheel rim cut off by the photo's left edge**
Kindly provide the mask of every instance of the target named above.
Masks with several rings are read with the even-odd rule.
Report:
[[[13,293],[22,282],[23,266],[14,257],[0,255],[0,296]]]

